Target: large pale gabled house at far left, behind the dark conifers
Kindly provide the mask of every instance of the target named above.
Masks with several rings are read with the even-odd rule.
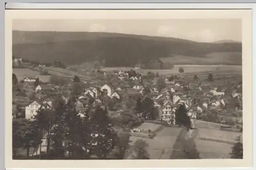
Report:
[[[37,114],[37,110],[42,108],[51,108],[49,104],[44,104],[41,101],[32,101],[25,107],[25,118],[26,119],[33,119],[34,116]]]

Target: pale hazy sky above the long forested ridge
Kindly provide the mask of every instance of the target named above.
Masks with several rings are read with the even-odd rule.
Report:
[[[198,42],[242,42],[242,19],[15,19],[13,30],[111,32],[174,37]]]

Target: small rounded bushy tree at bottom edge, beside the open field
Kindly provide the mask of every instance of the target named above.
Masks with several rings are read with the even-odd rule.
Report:
[[[134,142],[133,150],[136,154],[135,159],[149,159],[149,155],[146,151],[148,143],[142,139],[138,139]]]

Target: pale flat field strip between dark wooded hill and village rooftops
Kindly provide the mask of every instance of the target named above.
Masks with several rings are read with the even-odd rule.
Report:
[[[142,75],[147,74],[148,71],[158,72],[160,75],[171,75],[179,74],[179,68],[183,67],[185,76],[197,74],[198,77],[206,76],[209,72],[214,72],[223,75],[242,75],[242,66],[239,65],[174,65],[174,69],[135,69],[142,73]],[[104,71],[112,70],[129,70],[133,69],[132,67],[105,67],[102,68]],[[200,74],[201,73],[201,74]],[[207,75],[208,76],[208,75]]]

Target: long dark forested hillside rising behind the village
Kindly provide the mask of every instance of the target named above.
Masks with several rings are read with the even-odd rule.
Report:
[[[236,53],[238,55],[232,57],[231,62],[224,55],[217,63],[242,64],[242,43],[236,42],[201,43],[177,38],[116,33],[13,31],[13,55],[39,62],[57,60],[73,65],[94,61],[98,56],[98,59],[105,60],[105,66],[115,67],[134,66],[138,61],[145,64],[150,59],[172,56],[176,56],[175,60],[171,60],[176,64],[180,63],[177,56],[186,56],[187,63],[197,58],[199,62],[203,59],[204,63],[217,64],[207,57],[211,53],[221,53],[222,56]],[[184,63],[184,58],[181,59]]]

